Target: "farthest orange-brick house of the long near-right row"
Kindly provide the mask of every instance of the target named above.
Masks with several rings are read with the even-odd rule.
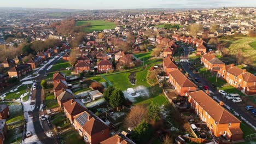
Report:
[[[178,69],[178,66],[174,63],[174,59],[166,57],[162,60],[162,66],[164,67],[165,73],[168,76],[170,71]]]

